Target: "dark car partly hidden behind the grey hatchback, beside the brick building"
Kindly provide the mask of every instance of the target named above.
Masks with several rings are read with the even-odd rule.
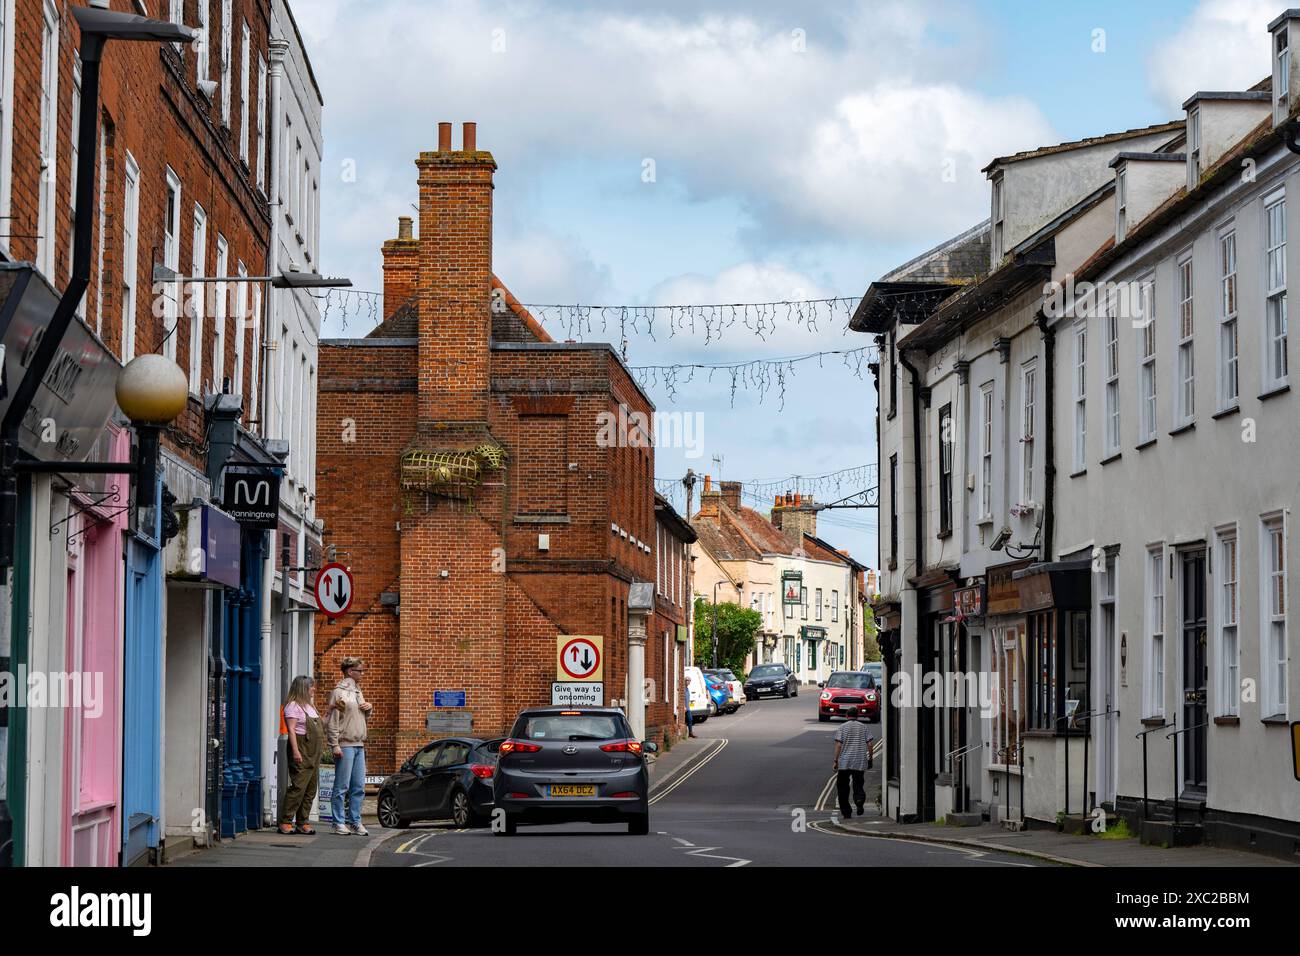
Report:
[[[460,827],[486,826],[500,741],[434,740],[380,784],[380,823],[400,830],[417,819],[450,817]]]

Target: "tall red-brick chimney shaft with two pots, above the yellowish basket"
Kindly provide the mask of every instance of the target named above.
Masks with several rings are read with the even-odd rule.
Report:
[[[421,152],[419,416],[486,429],[491,337],[491,191],[497,161],[477,148],[474,124],[462,150],[451,124]],[[467,431],[476,431],[467,429]]]

